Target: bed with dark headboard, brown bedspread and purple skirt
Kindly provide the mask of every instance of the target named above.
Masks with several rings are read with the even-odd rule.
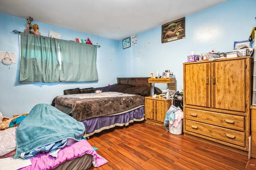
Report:
[[[100,93],[97,93],[97,91]],[[148,77],[117,78],[117,84],[100,88],[68,89],[52,105],[84,124],[90,137],[105,129],[144,120],[144,97],[150,95]]]

